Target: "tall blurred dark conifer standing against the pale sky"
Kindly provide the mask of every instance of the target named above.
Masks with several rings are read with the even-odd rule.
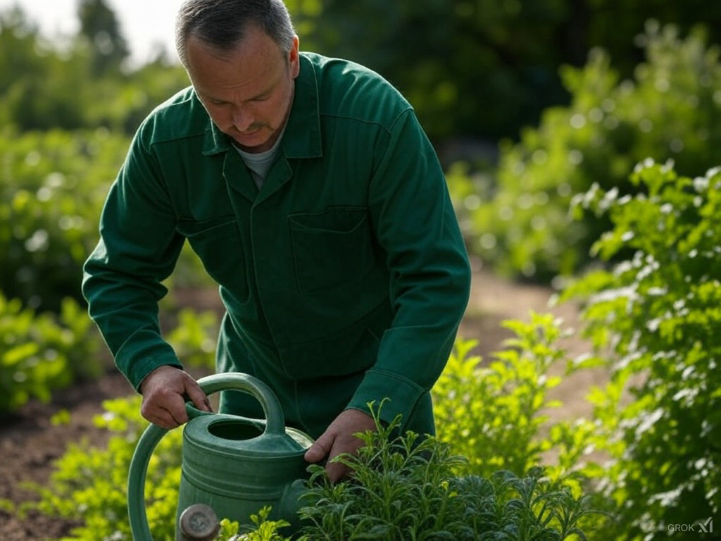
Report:
[[[87,38],[92,48],[92,73],[104,75],[118,71],[130,50],[115,12],[105,0],[79,0],[78,18],[80,35]]]

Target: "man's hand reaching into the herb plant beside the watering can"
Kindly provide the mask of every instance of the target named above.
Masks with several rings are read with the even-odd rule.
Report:
[[[371,415],[360,410],[345,410],[306,451],[305,459],[307,462],[320,462],[327,458],[325,470],[330,482],[335,483],[345,478],[350,470],[345,464],[331,460],[342,453],[355,454],[358,448],[363,446],[363,441],[353,434],[367,430],[376,430],[376,423]]]

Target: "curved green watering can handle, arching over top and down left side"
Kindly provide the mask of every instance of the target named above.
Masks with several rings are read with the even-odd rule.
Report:
[[[285,419],[278,398],[275,397],[273,390],[260,379],[239,372],[228,372],[200,378],[198,384],[206,395],[224,390],[239,390],[249,393],[257,398],[265,412],[264,434],[279,436],[286,434]],[[199,415],[214,415],[201,412],[189,403],[186,403],[185,409],[189,418]],[[128,517],[133,541],[153,541],[145,512],[145,478],[151,454],[165,434],[167,434],[165,428],[151,424],[138,440],[133,459],[131,459],[131,467],[128,472]]]

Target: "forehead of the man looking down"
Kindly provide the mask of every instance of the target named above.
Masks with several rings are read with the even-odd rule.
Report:
[[[229,51],[213,48],[194,35],[186,48],[187,71],[200,92],[253,92],[273,82],[286,63],[278,43],[257,27],[249,27]]]

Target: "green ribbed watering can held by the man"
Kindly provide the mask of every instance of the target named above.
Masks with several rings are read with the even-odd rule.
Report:
[[[206,395],[222,390],[249,393],[262,405],[265,420],[209,413],[186,403],[190,421],[183,430],[176,539],[213,539],[216,516],[249,524],[250,514],[266,505],[273,506],[271,519],[291,523],[288,534],[296,531],[298,496],[308,477],[303,455],[313,440],[285,426],[278,398],[260,379],[231,372],[203,377],[198,384]],[[145,512],[145,478],[153,449],[165,434],[166,429],[149,426],[133,454],[128,514],[134,541],[152,541]]]

